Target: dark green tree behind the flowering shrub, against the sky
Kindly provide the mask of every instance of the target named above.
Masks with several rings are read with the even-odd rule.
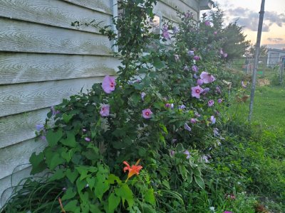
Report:
[[[217,38],[222,43],[224,53],[227,53],[227,60],[242,57],[250,46],[242,26],[239,26],[237,21],[224,26],[224,11],[219,9],[219,5],[216,11],[211,11],[209,19],[213,23],[214,31],[217,32]]]

